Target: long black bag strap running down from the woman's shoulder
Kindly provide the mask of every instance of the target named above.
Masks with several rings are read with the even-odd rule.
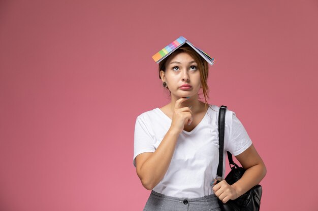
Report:
[[[227,106],[221,105],[218,113],[218,166],[216,173],[217,182],[222,180],[223,175],[223,153],[224,153],[224,131],[225,131],[225,113],[227,111]]]

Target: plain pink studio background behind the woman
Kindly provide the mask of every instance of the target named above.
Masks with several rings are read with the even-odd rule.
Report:
[[[168,103],[151,56],[180,35],[266,163],[261,210],[317,210],[313,0],[1,1],[0,210],[142,210],[135,120]]]

